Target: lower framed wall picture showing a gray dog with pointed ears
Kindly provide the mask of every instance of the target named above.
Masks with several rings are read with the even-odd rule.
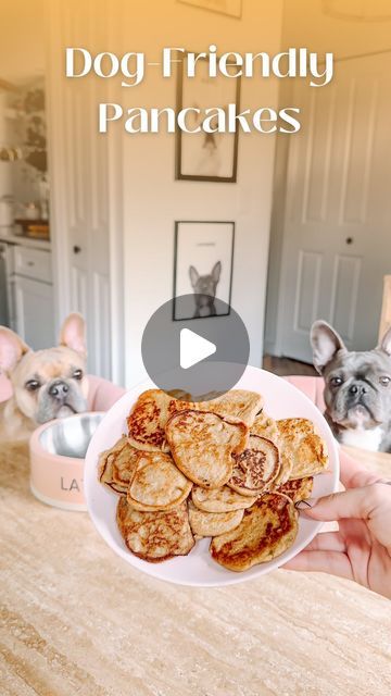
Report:
[[[234,222],[175,223],[175,321],[230,313],[234,245]]]

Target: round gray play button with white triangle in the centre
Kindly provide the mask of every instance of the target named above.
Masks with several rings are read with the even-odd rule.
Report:
[[[198,401],[235,387],[247,368],[250,341],[232,307],[190,294],[156,309],[144,328],[141,353],[160,389]]]

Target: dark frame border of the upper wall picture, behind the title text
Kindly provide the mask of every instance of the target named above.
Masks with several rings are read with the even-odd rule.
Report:
[[[176,108],[177,113],[184,107],[184,63],[189,51],[184,53],[184,59],[178,62],[177,69],[177,85],[176,85]],[[197,53],[195,55],[199,55]],[[207,60],[203,58],[202,60]],[[228,79],[228,78],[227,78]],[[235,103],[237,111],[240,111],[240,97],[241,97],[241,76],[236,77],[236,90],[235,90]],[[202,174],[182,174],[181,167],[181,145],[182,132],[180,128],[176,129],[175,134],[175,181],[187,182],[215,182],[222,184],[236,184],[238,181],[238,150],[239,150],[239,129],[237,128],[234,134],[234,162],[232,162],[232,175],[231,176],[203,176]]]

